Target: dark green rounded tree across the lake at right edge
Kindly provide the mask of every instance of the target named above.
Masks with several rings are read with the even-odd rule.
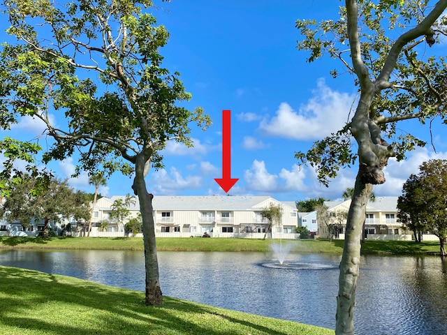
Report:
[[[397,215],[413,230],[428,230],[439,238],[441,256],[447,256],[447,161],[422,163],[419,174],[411,174],[397,200]]]

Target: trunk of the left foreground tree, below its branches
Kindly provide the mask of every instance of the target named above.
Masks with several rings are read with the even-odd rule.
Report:
[[[142,216],[143,244],[145,246],[145,303],[146,305],[161,305],[163,295],[160,288],[159,261],[156,255],[154,211],[152,199],[154,195],[149,194],[145,183],[146,159],[138,154],[135,162],[135,179],[133,179],[133,191],[138,195],[140,201],[140,212]]]

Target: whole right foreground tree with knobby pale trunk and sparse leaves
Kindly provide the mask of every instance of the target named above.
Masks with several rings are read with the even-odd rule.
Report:
[[[402,160],[405,152],[425,142],[408,132],[397,133],[397,122],[446,117],[447,67],[426,46],[446,34],[447,0],[346,0],[339,20],[298,20],[304,38],[298,49],[309,52],[309,62],[325,54],[339,59],[343,70],[331,75],[353,75],[359,98],[348,123],[337,133],[314,143],[296,158],[316,168],[327,185],[340,167],[358,161],[358,174],[346,223],[339,272],[335,332],[354,334],[353,315],[360,265],[362,223],[373,185],[383,184],[388,158]],[[429,54],[431,54],[429,56]],[[384,136],[382,136],[382,133]],[[351,136],[356,141],[353,151]],[[388,144],[383,137],[393,139]]]

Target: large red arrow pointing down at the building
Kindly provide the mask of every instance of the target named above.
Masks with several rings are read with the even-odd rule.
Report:
[[[231,178],[231,121],[230,110],[222,111],[222,178],[214,178],[223,191],[228,193],[238,178]]]

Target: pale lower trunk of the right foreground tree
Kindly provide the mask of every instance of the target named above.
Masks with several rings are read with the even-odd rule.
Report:
[[[335,315],[335,334],[353,335],[353,312],[356,304],[356,287],[360,265],[362,227],[365,209],[372,192],[372,184],[363,184],[361,171],[356,178],[356,186],[346,221],[346,234],[342,262],[340,262],[339,291],[337,295],[337,314]]]

